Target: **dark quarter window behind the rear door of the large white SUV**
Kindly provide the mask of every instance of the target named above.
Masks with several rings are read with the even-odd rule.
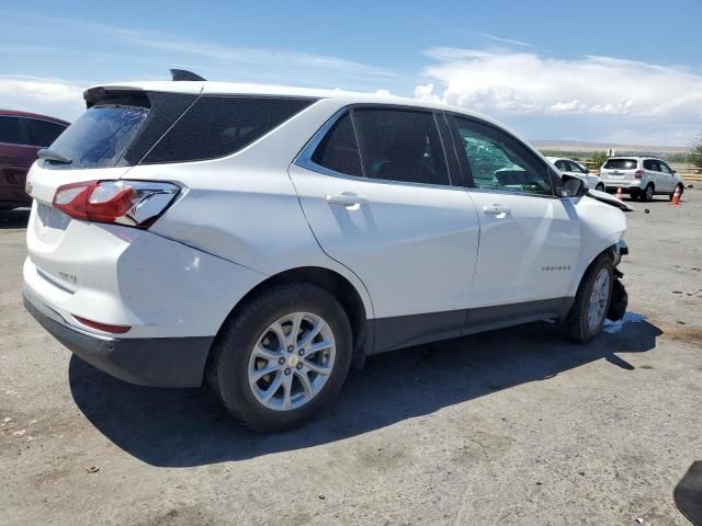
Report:
[[[143,161],[183,162],[228,156],[315,102],[272,96],[201,96]]]

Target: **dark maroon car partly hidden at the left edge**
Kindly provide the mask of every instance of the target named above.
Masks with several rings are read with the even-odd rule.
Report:
[[[36,152],[48,147],[69,123],[35,113],[0,110],[0,210],[30,206],[26,172]]]

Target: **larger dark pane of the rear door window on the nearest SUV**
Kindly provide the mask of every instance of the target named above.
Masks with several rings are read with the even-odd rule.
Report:
[[[366,178],[451,184],[433,113],[360,107],[353,110],[353,124]]]

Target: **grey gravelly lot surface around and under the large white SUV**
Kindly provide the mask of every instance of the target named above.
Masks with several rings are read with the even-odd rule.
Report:
[[[626,323],[373,357],[324,418],[269,436],[206,389],[71,357],[22,307],[26,213],[0,213],[0,524],[688,524],[671,494],[702,459],[702,191],[635,206]]]

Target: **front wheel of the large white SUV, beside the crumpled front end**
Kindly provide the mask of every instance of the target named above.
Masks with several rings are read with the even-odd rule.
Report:
[[[609,254],[601,254],[582,276],[573,307],[561,322],[561,331],[567,339],[586,343],[602,331],[612,300],[613,283],[612,260]]]

